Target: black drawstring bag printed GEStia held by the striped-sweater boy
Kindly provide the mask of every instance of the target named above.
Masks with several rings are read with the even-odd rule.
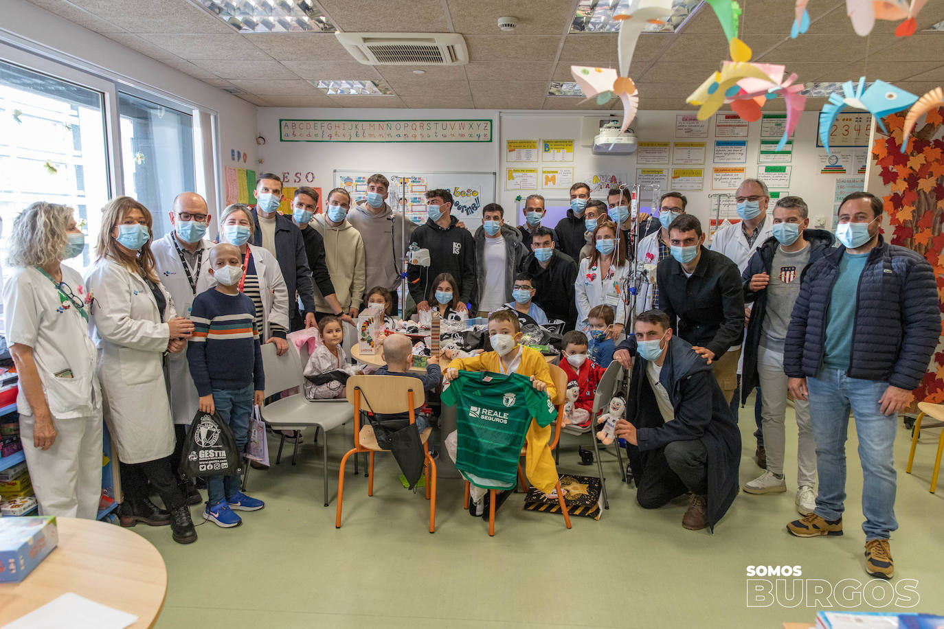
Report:
[[[242,472],[242,462],[227,422],[216,413],[197,411],[183,443],[179,472],[191,480],[198,476],[232,476]]]

